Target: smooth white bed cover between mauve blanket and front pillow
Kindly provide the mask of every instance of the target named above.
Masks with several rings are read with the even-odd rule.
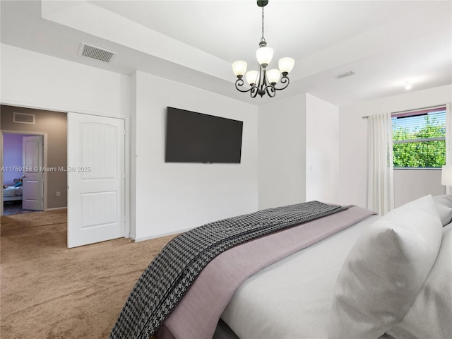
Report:
[[[241,339],[327,338],[339,270],[359,235],[358,222],[245,280],[221,318]]]

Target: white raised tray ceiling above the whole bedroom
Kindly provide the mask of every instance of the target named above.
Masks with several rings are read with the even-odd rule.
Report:
[[[452,1],[284,1],[265,8],[265,37],[295,59],[276,97],[234,88],[232,61],[256,69],[261,8],[241,1],[1,1],[1,42],[124,74],[143,71],[261,105],[311,93],[334,105],[452,83]],[[109,64],[81,42],[117,52]],[[355,76],[336,76],[354,71]]]

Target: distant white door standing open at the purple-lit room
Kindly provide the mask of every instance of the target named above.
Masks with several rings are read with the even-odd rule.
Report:
[[[44,177],[42,169],[42,136],[22,138],[22,208],[44,209]]]

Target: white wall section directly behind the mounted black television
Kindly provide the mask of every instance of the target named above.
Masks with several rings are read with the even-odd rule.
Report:
[[[180,232],[258,208],[258,109],[238,100],[136,72],[131,135],[136,168],[135,239]],[[176,107],[244,121],[240,164],[165,163],[165,112]]]

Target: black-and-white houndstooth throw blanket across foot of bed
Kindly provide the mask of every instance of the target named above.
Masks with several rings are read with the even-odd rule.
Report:
[[[309,201],[210,222],[180,234],[160,251],[131,291],[110,339],[149,339],[197,275],[223,251],[347,207]]]

